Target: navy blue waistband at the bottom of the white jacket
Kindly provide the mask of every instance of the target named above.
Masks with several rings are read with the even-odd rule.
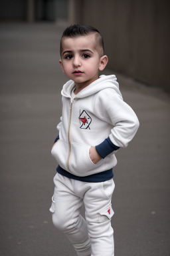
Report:
[[[68,171],[65,171],[64,169],[62,169],[60,165],[58,165],[58,167],[56,168],[56,171],[60,173],[60,175],[68,177],[69,179],[76,179],[77,181],[84,181],[84,182],[96,183],[96,182],[108,181],[114,177],[114,173],[112,169],[108,171],[102,171],[102,173],[95,173],[85,177],[79,177],[79,176],[73,175],[72,173],[68,173]]]

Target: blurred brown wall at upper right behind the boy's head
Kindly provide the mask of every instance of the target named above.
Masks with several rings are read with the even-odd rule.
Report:
[[[70,23],[96,27],[108,67],[148,85],[169,88],[169,1],[70,0]],[[74,8],[73,8],[74,7]]]

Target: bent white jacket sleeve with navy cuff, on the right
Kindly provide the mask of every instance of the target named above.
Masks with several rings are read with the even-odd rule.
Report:
[[[109,137],[96,145],[98,154],[105,158],[120,147],[128,146],[139,128],[139,121],[133,109],[118,95],[112,95],[107,99],[103,109],[103,115],[113,125]]]

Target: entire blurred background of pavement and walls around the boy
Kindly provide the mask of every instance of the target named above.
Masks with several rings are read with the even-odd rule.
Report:
[[[48,211],[56,161],[50,149],[67,81],[60,37],[73,23],[96,27],[137,135],[116,153],[116,256],[169,256],[169,1],[0,1],[0,255],[74,256]],[[84,214],[84,209],[82,209]]]

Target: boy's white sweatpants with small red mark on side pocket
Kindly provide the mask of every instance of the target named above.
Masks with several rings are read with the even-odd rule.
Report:
[[[54,177],[52,221],[70,240],[78,256],[114,256],[111,205],[114,181],[88,183]],[[84,202],[85,217],[80,215]]]

